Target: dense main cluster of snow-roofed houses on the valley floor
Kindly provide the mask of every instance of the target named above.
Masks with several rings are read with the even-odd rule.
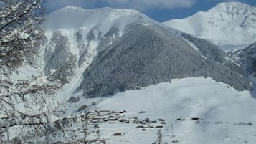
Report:
[[[91,124],[98,127],[100,123],[133,123],[137,124],[137,128],[163,128],[166,125],[164,119],[150,120],[146,118],[140,120],[138,117],[125,117],[126,110],[115,111],[115,110],[95,110],[87,113],[91,119]],[[142,113],[142,112],[139,112]],[[143,112],[145,113],[145,112]]]

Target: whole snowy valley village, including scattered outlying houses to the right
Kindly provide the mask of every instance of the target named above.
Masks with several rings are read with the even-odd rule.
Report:
[[[115,111],[115,110],[90,110],[85,115],[89,120],[90,128],[93,128],[91,133],[96,133],[99,128],[107,128],[108,134],[112,135],[113,137],[125,137],[125,135],[128,135],[127,130],[124,130],[123,128],[134,128],[134,130],[143,131],[150,131],[156,130],[168,130],[170,128],[171,133],[166,133],[166,138],[171,138],[172,143],[178,143],[178,140],[176,138],[176,135],[174,135],[173,125],[180,123],[186,123],[191,121],[194,124],[222,124],[221,120],[218,120],[216,122],[210,122],[209,120],[205,120],[203,118],[199,117],[179,117],[174,119],[173,123],[170,125],[167,125],[166,120],[163,118],[157,118],[157,119],[151,119],[150,117],[146,118],[139,118],[139,117],[145,117],[146,111],[140,111],[138,112],[138,115],[136,117],[127,117],[126,115],[129,115],[129,113],[126,110],[122,111]],[[84,117],[83,115],[82,117]],[[225,123],[229,124],[229,123]],[[107,125],[107,126],[106,126]],[[112,125],[112,126],[111,126]],[[115,129],[116,126],[123,125],[123,128]],[[249,123],[240,122],[240,123],[234,123],[234,125],[252,125],[252,123],[249,121]],[[121,126],[122,127],[122,126]],[[111,130],[109,130],[111,129]],[[155,133],[156,133],[155,132]]]

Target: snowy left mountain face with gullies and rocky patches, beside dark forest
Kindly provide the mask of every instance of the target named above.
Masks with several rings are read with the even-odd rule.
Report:
[[[47,17],[42,54],[44,72],[62,83],[80,77],[94,57],[123,35],[130,24],[154,21],[131,9],[67,6]]]

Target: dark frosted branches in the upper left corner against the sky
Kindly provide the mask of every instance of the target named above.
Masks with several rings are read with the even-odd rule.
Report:
[[[44,35],[40,0],[1,1],[0,68],[16,69],[37,54]]]

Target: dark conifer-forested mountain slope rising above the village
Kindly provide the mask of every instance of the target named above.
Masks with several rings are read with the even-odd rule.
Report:
[[[77,92],[108,96],[184,77],[212,77],[237,90],[250,90],[242,75],[242,69],[210,42],[174,34],[158,24],[137,24],[98,54]]]

